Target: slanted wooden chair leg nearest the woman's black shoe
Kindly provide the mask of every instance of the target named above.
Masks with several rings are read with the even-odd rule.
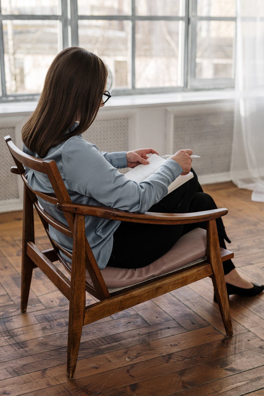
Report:
[[[231,336],[233,328],[215,220],[207,222],[207,257],[213,270],[213,286],[224,328],[226,329],[226,334]]]

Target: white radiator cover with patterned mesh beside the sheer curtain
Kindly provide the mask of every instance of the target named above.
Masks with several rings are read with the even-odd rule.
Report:
[[[167,109],[166,151],[192,148],[201,156],[192,162],[201,184],[229,181],[233,126],[233,102]]]

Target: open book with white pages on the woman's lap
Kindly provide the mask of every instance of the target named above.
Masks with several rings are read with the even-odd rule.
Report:
[[[164,158],[160,157],[157,154],[148,154],[149,158],[149,164],[148,165],[143,165],[140,164],[136,166],[135,168],[131,169],[131,171],[128,171],[125,173],[125,176],[127,179],[136,181],[137,183],[140,183],[141,181],[145,180],[147,177],[152,175],[158,168],[160,168],[161,165],[164,164],[167,160]],[[194,174],[192,172],[189,172],[188,175],[180,175],[178,176],[168,187],[168,194],[175,190],[176,188],[180,187],[182,184],[186,183],[186,181],[192,179],[194,177]]]

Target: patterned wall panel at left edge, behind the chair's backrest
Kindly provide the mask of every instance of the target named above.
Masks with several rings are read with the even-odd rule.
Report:
[[[15,127],[0,128],[0,201],[19,198],[17,177],[10,172],[15,163],[4,141],[6,135],[15,143]]]

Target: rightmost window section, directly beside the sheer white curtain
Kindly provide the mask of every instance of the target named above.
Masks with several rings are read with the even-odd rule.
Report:
[[[190,87],[234,86],[236,0],[190,5]]]

